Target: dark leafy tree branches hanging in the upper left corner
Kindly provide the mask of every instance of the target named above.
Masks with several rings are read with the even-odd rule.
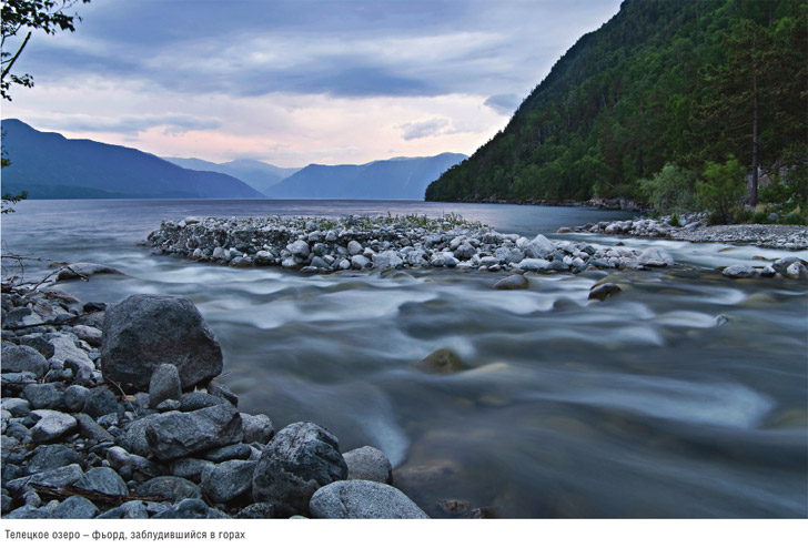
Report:
[[[11,84],[19,84],[26,88],[33,88],[31,74],[14,74],[11,72],[14,63],[26,49],[31,33],[34,30],[42,30],[47,34],[55,34],[57,31],[69,30],[73,32],[73,20],[81,21],[78,14],[68,16],[64,10],[72,8],[79,0],[3,0],[2,11],[2,47],[0,57],[2,59],[2,74],[0,77],[0,97],[11,101],[9,88]],[[81,0],[88,3],[90,0]],[[26,37],[21,38],[22,32]],[[8,49],[13,39],[22,41],[16,47]]]

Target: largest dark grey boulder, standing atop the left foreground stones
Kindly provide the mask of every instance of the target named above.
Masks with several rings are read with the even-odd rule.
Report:
[[[219,341],[193,303],[170,295],[132,295],[107,308],[101,344],[104,378],[144,392],[160,364],[174,364],[183,389],[222,372]]]

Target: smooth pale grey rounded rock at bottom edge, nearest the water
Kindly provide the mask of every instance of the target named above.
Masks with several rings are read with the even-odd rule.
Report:
[[[395,487],[363,479],[321,487],[312,496],[309,509],[313,517],[326,519],[428,519]]]

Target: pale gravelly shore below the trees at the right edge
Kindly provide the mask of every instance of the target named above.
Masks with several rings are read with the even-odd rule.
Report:
[[[681,215],[679,223],[681,226],[674,226],[670,221],[670,216],[664,216],[658,221],[636,219],[633,221],[600,222],[576,227],[563,227],[558,232],[629,235],[680,240],[693,243],[715,242],[789,251],[808,248],[808,226],[778,224],[708,226],[706,215],[697,213]]]

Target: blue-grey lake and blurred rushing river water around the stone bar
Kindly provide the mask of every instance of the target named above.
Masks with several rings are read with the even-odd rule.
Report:
[[[191,214],[387,212],[455,212],[527,236],[630,216],[423,202],[29,201],[2,219],[2,239],[19,254],[127,274],[60,284],[84,300],[189,296],[222,344],[223,380],[241,410],[266,413],[276,428],[314,420],[343,450],[383,449],[396,486],[433,516],[448,516],[438,500],[503,517],[808,516],[808,286],[715,271],[794,252],[624,239],[686,266],[536,276],[528,291],[494,292],[501,274],[305,276],[137,246],[162,219]],[[562,236],[619,240],[552,237]],[[604,276],[623,293],[588,301]],[[412,366],[444,347],[466,371]]]

